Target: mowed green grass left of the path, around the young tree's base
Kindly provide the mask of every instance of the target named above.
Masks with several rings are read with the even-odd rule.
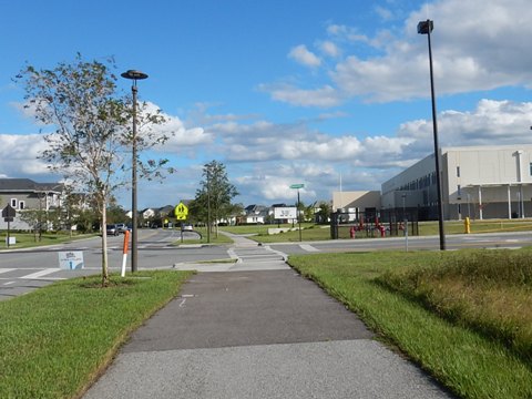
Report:
[[[127,335],[171,300],[187,272],[140,272],[60,282],[0,301],[0,397],[72,398]]]

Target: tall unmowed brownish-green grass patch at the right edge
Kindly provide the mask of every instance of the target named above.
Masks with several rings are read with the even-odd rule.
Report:
[[[532,253],[471,252],[379,278],[449,320],[492,338],[532,365]]]

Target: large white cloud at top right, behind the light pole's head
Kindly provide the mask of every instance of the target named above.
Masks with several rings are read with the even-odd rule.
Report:
[[[376,11],[391,18],[385,9]],[[429,16],[434,21],[431,39],[439,95],[532,86],[532,52],[523,39],[532,35],[529,0],[438,1],[431,4]],[[400,30],[381,30],[374,38],[351,27],[330,24],[330,43],[348,41],[367,48],[357,45],[350,53],[345,51],[346,58],[329,71],[330,80],[323,82],[323,89],[264,88],[274,100],[303,106],[335,106],[351,98],[369,102],[427,98],[427,35],[417,33],[418,22],[426,19],[427,10],[420,7]]]

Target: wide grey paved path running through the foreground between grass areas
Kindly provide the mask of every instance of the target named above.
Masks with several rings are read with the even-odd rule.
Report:
[[[234,253],[252,247],[238,238]],[[195,275],[85,398],[451,397],[282,257],[253,253],[245,272]]]

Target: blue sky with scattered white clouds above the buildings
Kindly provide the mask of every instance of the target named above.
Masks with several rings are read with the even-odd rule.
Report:
[[[434,151],[427,19],[440,145],[531,144],[530,0],[0,0],[0,177],[55,178],[13,78],[80,52],[147,73],[166,117],[176,173],[140,208],[193,198],[213,160],[244,206],[380,190]]]

